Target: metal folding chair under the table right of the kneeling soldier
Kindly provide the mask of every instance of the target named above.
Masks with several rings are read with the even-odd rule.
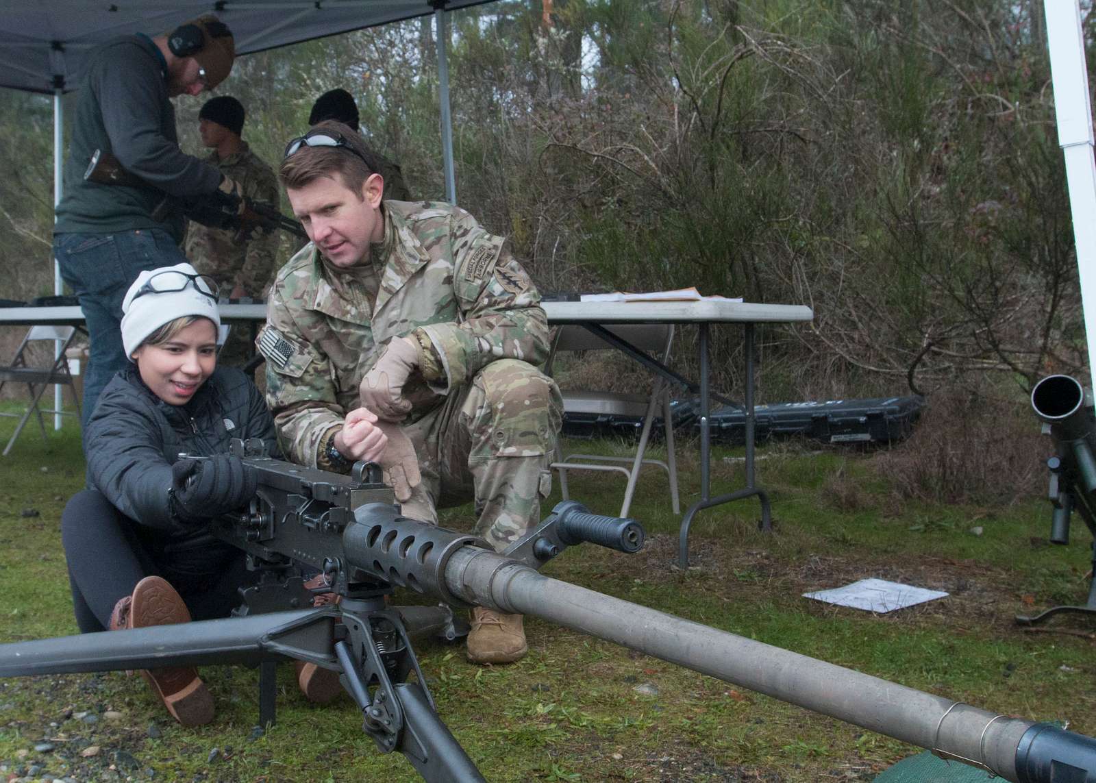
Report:
[[[608,327],[617,337],[636,348],[652,353],[663,364],[670,360],[670,348],[673,343],[674,327],[671,324],[642,324]],[[552,362],[559,351],[603,351],[613,347],[581,326],[561,326],[556,333],[551,353],[546,364],[547,374],[551,374]],[[556,462],[551,467],[559,470],[560,491],[568,499],[568,470],[601,470],[606,473],[623,473],[628,478],[625,488],[624,502],[620,506],[620,517],[628,515],[631,499],[639,481],[639,470],[643,465],[658,465],[666,472],[670,480],[670,499],[675,514],[681,513],[677,499],[677,462],[674,455],[674,427],[670,410],[670,389],[661,376],[654,378],[649,395],[618,394],[610,392],[570,392],[562,390],[563,410],[567,413],[587,413],[597,416],[642,417],[643,427],[639,436],[636,454],[630,457],[602,456],[600,454],[563,455],[561,447],[556,446]],[[666,462],[649,459],[643,456],[651,436],[651,427],[655,416],[661,412],[666,438]],[[624,463],[613,464],[613,463]],[[630,465],[630,467],[625,467]]]

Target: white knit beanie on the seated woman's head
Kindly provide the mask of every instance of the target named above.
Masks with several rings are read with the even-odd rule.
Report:
[[[220,328],[220,313],[217,303],[213,297],[203,294],[196,286],[205,284],[196,280],[187,280],[186,286],[182,291],[147,291],[140,296],[137,292],[155,274],[161,272],[182,272],[184,274],[197,274],[195,269],[189,263],[176,263],[174,266],[160,266],[151,271],[141,272],[137,280],[126,292],[126,298],[122,302],[122,345],[126,351],[126,359],[133,361],[134,351],[140,348],[149,334],[170,324],[176,318],[184,316],[201,316],[213,321],[214,326]],[[182,284],[182,280],[158,279],[158,284],[169,283],[171,287]]]

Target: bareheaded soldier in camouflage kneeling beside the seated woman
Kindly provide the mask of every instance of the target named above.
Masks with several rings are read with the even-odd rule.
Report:
[[[279,171],[312,240],[278,272],[258,340],[283,450],[326,469],[379,462],[424,521],[472,498],[476,533],[502,548],[539,520],[562,417],[534,366],[548,350],[540,296],[467,212],[381,204],[384,181],[346,130],[313,127]],[[472,621],[471,660],[525,655],[521,615]]]

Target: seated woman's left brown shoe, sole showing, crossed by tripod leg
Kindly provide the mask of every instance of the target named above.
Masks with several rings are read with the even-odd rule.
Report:
[[[160,577],[145,577],[114,605],[111,631],[145,628],[191,622],[191,613],[175,589]],[[141,677],[183,726],[201,726],[213,720],[213,696],[192,666],[149,669]]]

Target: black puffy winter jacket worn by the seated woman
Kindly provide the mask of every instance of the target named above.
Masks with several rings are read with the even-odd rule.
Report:
[[[255,385],[235,367],[217,367],[183,406],[157,397],[126,367],[103,389],[83,431],[89,484],[135,522],[169,538],[190,538],[199,529],[175,519],[171,466],[181,454],[212,456],[232,438],[260,438],[277,456],[274,420]]]

